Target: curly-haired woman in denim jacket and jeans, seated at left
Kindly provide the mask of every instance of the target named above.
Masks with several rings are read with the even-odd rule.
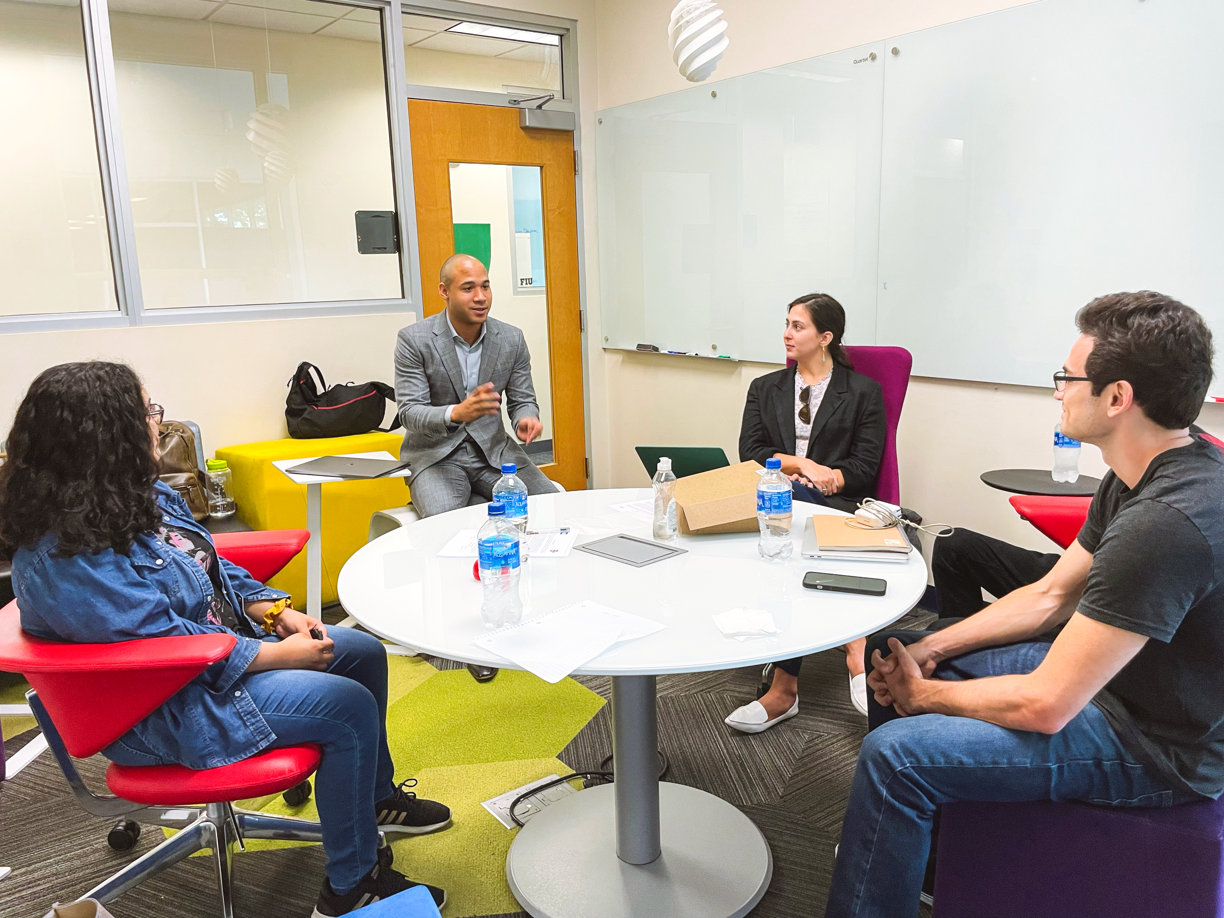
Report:
[[[182,498],[158,481],[162,414],[121,364],[61,364],[29,387],[0,466],[0,554],[12,559],[22,629],[84,644],[237,635],[229,656],[103,755],[212,769],[318,743],[328,862],[313,918],[419,885],[389,869],[378,832],[444,829],[450,810],[394,783],[382,644],[350,628],[329,633],[217,553]],[[446,894],[430,892],[441,907]]]

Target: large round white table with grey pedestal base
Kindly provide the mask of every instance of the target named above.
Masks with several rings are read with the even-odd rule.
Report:
[[[613,504],[649,488],[572,491],[529,501],[530,528],[577,529],[578,545],[614,532],[650,539],[639,515]],[[920,552],[905,563],[826,562],[799,554],[804,519],[838,513],[794,503],[794,552],[756,553],[755,532],[679,536],[687,553],[634,568],[586,552],[532,558],[523,568],[523,617],[594,600],[666,624],[595,657],[575,674],[612,677],[616,781],[572,794],[535,815],[510,846],[506,875],[535,918],[739,918],[765,895],[772,856],[760,830],[730,803],[657,778],[655,677],[753,666],[835,647],[909,611],[927,586]],[[414,523],[370,542],[340,572],[344,608],[368,630],[426,654],[512,667],[472,644],[483,632],[471,558],[439,558],[485,506]],[[807,570],[883,578],[884,596],[805,590]],[[781,634],[725,638],[711,614],[764,608]]]

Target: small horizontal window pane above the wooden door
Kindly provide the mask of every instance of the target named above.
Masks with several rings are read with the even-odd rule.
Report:
[[[561,38],[547,32],[404,13],[404,69],[415,86],[562,95]]]

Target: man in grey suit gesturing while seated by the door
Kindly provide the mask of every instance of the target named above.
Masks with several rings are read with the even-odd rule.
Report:
[[[490,318],[493,293],[485,266],[453,255],[438,293],[447,308],[403,328],[395,344],[395,400],[406,431],[399,457],[412,466],[412,506],[422,517],[485,503],[503,463],[528,493],[556,487],[502,425],[502,393],[524,443],[543,430],[531,386],[531,355],[514,326]]]

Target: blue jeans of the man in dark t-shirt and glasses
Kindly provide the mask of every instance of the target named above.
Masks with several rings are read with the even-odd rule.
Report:
[[[928,632],[883,632],[868,639],[870,655],[887,639],[912,644]],[[940,679],[1029,673],[1045,659],[1047,641],[974,651],[940,663]],[[826,918],[908,918],[941,803],[952,800],[1083,800],[1114,807],[1168,807],[1168,781],[1122,748],[1100,710],[1088,704],[1053,736],[1007,730],[972,717],[923,714],[902,717],[868,693],[870,732],[863,739]]]

